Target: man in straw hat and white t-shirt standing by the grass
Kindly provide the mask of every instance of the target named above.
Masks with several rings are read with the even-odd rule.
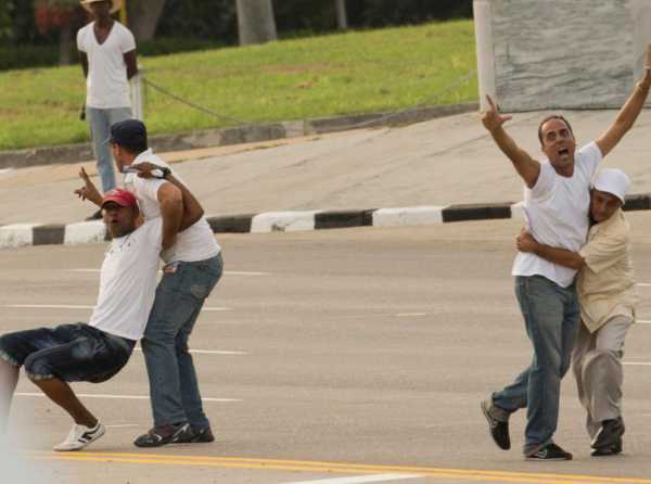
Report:
[[[77,33],[77,49],[87,79],[85,114],[104,193],[116,187],[106,140],[111,125],[131,117],[129,79],[138,73],[133,35],[111,16],[120,3],[120,0],[81,0],[93,22]],[[101,216],[98,211],[89,219]]]

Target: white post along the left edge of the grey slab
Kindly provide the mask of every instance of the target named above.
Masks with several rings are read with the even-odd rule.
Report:
[[[493,17],[490,0],[474,0],[475,42],[477,51],[477,77],[480,81],[480,110],[486,111],[486,94],[497,102],[495,89],[495,50],[493,48]]]

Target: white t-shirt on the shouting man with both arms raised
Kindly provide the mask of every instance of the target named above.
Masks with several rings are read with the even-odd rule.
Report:
[[[524,189],[527,228],[536,241],[552,247],[578,252],[589,229],[590,181],[603,158],[596,142],[574,154],[574,174],[562,177],[549,161],[540,163],[540,175],[533,189]],[[519,252],[513,276],[544,276],[562,288],[574,281],[576,270],[545,260],[533,253]]]

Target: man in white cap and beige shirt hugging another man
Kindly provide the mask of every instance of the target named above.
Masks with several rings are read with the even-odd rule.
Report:
[[[592,183],[587,243],[578,252],[544,245],[523,231],[518,250],[578,269],[580,318],[572,368],[578,397],[587,411],[592,456],[622,451],[622,356],[635,321],[637,293],[630,262],[630,229],[622,212],[628,176],[607,168]]]

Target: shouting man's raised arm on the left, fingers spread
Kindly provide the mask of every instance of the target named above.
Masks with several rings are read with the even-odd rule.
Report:
[[[522,150],[511,138],[507,131],[505,131],[503,124],[511,119],[511,116],[502,116],[493,99],[489,95],[486,97],[490,109],[483,113],[482,123],[484,127],[490,132],[495,143],[502,151],[503,154],[511,161],[513,168],[518,171],[518,175],[524,180],[528,188],[533,188],[538,180],[540,175],[540,163],[531,157],[531,155]]]

